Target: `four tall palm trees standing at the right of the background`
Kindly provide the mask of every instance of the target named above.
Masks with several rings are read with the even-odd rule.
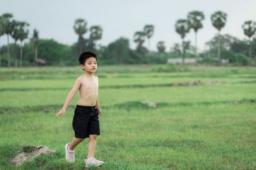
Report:
[[[175,31],[180,34],[180,37],[182,38],[182,64],[184,64],[184,54],[185,54],[185,48],[184,48],[184,38],[186,34],[188,34],[190,29],[194,29],[195,31],[195,56],[196,56],[196,62],[198,61],[198,54],[197,54],[197,38],[196,33],[198,29],[202,29],[203,24],[202,20],[204,20],[204,13],[201,11],[191,11],[188,13],[186,19],[180,19],[177,20],[175,24]],[[218,61],[219,64],[221,62],[220,60],[220,31],[225,26],[227,22],[227,13],[224,13],[223,11],[216,11],[212,13],[211,15],[211,22],[212,25],[218,30]],[[248,20],[244,22],[242,25],[244,34],[248,36],[249,38],[249,57],[250,62],[252,62],[252,52],[251,52],[251,38],[256,32],[256,22],[253,22],[252,20]]]

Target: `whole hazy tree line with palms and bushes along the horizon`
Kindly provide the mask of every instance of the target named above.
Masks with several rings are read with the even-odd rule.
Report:
[[[209,46],[209,50],[198,53],[197,32],[203,28],[202,21],[204,19],[205,16],[202,11],[189,12],[187,18],[179,19],[175,23],[175,31],[182,38],[181,45],[175,43],[170,52],[165,52],[166,46],[164,41],[159,41],[157,43],[158,52],[154,52],[150,50],[150,38],[154,35],[154,25],[145,25],[142,31],[134,32],[133,41],[137,46],[135,50],[131,50],[129,39],[127,38],[119,38],[109,43],[108,46],[97,46],[97,41],[102,38],[102,27],[100,25],[93,25],[89,29],[87,28],[86,20],[83,18],[77,18],[74,21],[73,28],[78,35],[78,39],[71,46],[62,45],[54,41],[54,39],[39,39],[39,32],[36,29],[33,30],[33,35],[29,42],[23,45],[22,42],[28,38],[29,34],[28,22],[14,20],[11,13],[4,13],[0,16],[0,38],[6,34],[7,46],[1,46],[0,44],[0,67],[2,65],[17,67],[18,62],[19,66],[22,66],[22,60],[24,60],[25,66],[38,64],[75,65],[77,64],[77,56],[84,49],[97,52],[101,64],[164,64],[171,57],[182,57],[182,64],[184,64],[185,57],[195,57],[196,62],[214,61],[220,64],[221,59],[228,59],[229,62],[241,62],[242,60],[244,62],[246,60],[246,63],[248,63],[247,56],[249,56],[250,62],[252,62],[252,56],[256,54],[256,40],[253,38],[256,32],[255,22],[248,20],[242,25],[244,34],[249,39],[249,45],[247,45],[245,40],[239,40],[228,34],[222,36],[220,31],[227,22],[227,14],[222,11],[214,12],[211,15],[211,22],[218,30],[218,35],[205,43]],[[184,38],[191,29],[195,32],[195,45],[191,45],[190,41],[184,41]],[[84,38],[87,32],[90,32],[90,34],[88,38]],[[10,44],[9,36],[14,39],[14,43]],[[143,46],[146,40],[148,41],[147,48]],[[228,41],[230,43],[227,47],[225,43]],[[18,42],[19,45],[17,45]],[[19,52],[17,48],[20,48]],[[249,50],[246,50],[247,48]],[[214,57],[216,53],[217,58]],[[17,59],[18,55],[20,56],[19,60]],[[198,57],[202,60],[198,60]],[[2,58],[3,64],[1,64]]]

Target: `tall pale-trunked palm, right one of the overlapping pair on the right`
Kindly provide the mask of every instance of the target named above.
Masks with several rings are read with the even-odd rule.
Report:
[[[191,11],[188,13],[188,23],[189,27],[193,28],[195,31],[195,56],[196,62],[198,62],[198,55],[197,55],[197,31],[198,29],[202,29],[203,24],[202,20],[204,20],[204,13],[201,11]]]

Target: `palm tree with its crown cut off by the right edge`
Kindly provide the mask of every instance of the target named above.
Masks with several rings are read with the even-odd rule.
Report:
[[[244,22],[242,25],[242,28],[244,30],[244,34],[248,36],[249,38],[249,56],[250,56],[250,63],[252,63],[252,45],[251,45],[251,37],[255,34],[256,32],[256,22],[252,20],[248,20]]]

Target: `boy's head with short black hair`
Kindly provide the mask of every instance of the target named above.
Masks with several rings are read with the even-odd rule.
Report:
[[[79,56],[79,64],[86,72],[95,73],[97,69],[97,55],[90,51],[84,51]]]

